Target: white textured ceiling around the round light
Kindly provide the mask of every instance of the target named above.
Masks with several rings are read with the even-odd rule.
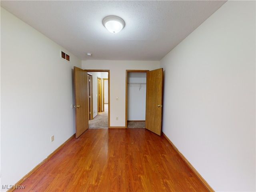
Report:
[[[1,6],[81,60],[161,60],[225,2],[1,0]],[[121,32],[104,28],[109,15],[124,20]]]

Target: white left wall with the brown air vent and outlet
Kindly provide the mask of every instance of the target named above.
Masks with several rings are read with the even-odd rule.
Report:
[[[14,185],[75,133],[73,66],[81,60],[1,8],[3,185]]]

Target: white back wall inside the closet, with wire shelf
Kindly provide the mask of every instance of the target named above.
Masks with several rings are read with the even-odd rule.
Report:
[[[127,120],[145,120],[146,72],[128,72]]]

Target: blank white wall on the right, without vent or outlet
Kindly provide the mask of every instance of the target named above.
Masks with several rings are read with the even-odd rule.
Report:
[[[255,1],[228,1],[161,61],[162,130],[215,191],[255,191]]]

